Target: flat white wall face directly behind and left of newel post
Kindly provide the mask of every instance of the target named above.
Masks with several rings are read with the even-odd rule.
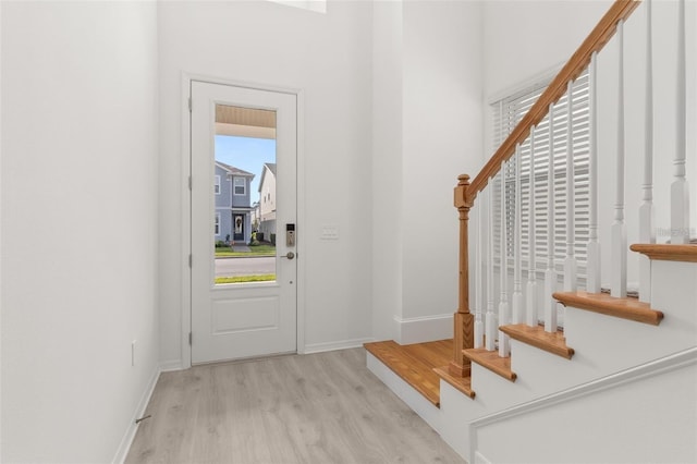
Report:
[[[481,4],[404,4],[403,317],[457,309],[457,175],[479,168]],[[452,332],[452,325],[448,327]],[[451,333],[449,333],[451,337]]]

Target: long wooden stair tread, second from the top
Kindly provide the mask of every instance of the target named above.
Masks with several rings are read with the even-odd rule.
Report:
[[[658,326],[663,313],[651,309],[648,303],[636,298],[617,298],[606,293],[558,292],[552,295],[564,306]]]

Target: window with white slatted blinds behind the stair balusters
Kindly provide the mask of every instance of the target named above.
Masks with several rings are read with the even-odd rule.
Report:
[[[536,85],[513,96],[493,103],[494,131],[493,147],[498,148],[516,124],[533,107],[542,94],[548,83]],[[574,154],[574,252],[578,261],[579,274],[585,274],[586,247],[588,243],[589,221],[589,89],[588,73],[584,72],[572,87],[572,150]],[[549,257],[548,236],[548,194],[554,192],[554,260],[561,264],[566,255],[566,223],[570,211],[566,211],[566,133],[570,117],[568,98],[566,94],[557,102],[553,109],[553,126],[550,126],[549,114],[538,124],[535,132],[535,154],[530,152],[530,138],[521,146],[521,159],[511,158],[503,173],[508,193],[505,205],[506,224],[506,256],[514,254],[514,228],[522,232],[521,256],[524,261],[529,259],[530,247],[535,246],[537,268],[542,269]],[[553,144],[550,143],[553,141]],[[549,185],[549,154],[553,158],[553,185]],[[534,160],[531,162],[530,160]],[[522,217],[515,224],[515,163],[521,163],[521,199]],[[530,192],[530,169],[535,175],[535,192]],[[500,178],[491,185],[494,195],[494,253],[501,256],[501,181]],[[535,244],[529,243],[528,223],[530,207],[535,217]],[[524,268],[527,268],[526,265]]]

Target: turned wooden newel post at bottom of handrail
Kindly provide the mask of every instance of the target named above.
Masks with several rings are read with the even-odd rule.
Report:
[[[449,370],[453,376],[468,377],[470,362],[463,354],[463,350],[474,347],[474,316],[469,313],[469,258],[467,248],[467,223],[469,209],[474,198],[468,192],[469,175],[462,174],[457,178],[455,187],[455,208],[460,212],[460,296],[457,312],[453,315],[453,361]]]

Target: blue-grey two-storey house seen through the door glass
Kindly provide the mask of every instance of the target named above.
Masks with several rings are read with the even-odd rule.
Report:
[[[216,241],[248,243],[252,239],[253,179],[250,172],[216,161]]]

